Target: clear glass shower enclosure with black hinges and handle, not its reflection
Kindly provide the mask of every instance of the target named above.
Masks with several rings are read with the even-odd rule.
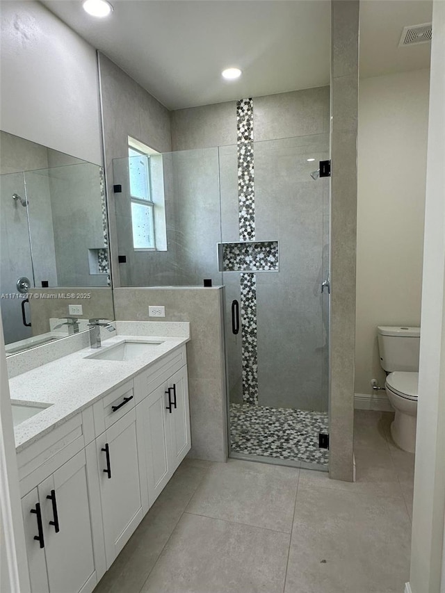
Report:
[[[120,286],[223,285],[229,455],[327,469],[329,136],[257,142],[253,155],[248,204],[236,146],[115,159]],[[131,211],[142,166],[159,242],[145,249]]]

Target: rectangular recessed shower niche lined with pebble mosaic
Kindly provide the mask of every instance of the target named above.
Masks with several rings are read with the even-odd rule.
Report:
[[[277,241],[220,243],[222,272],[277,272],[279,270]]]

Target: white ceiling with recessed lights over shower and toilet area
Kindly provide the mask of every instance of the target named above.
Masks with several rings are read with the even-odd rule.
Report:
[[[169,109],[323,86],[330,0],[111,0],[94,19],[80,0],[44,0]],[[398,48],[405,25],[430,22],[431,0],[362,0],[360,74],[428,67],[430,46]],[[224,81],[225,67],[243,70]]]

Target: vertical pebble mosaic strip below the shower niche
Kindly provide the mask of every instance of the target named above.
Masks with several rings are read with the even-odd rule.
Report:
[[[240,280],[243,400],[258,404],[257,279],[242,273]]]

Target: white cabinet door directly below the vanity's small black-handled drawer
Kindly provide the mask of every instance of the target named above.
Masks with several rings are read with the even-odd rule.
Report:
[[[134,409],[97,439],[107,567],[143,518]]]

